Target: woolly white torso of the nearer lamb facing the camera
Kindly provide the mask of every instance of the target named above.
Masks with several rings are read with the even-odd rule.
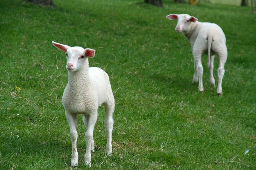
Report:
[[[91,114],[99,105],[113,98],[108,74],[101,68],[69,72],[69,80],[62,96],[65,110],[77,114]],[[104,85],[108,85],[105,87]]]

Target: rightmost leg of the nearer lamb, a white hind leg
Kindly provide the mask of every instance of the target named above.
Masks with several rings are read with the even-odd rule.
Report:
[[[105,127],[107,133],[107,155],[112,153],[112,130],[113,130],[113,114],[114,111],[114,103],[112,105],[105,104]]]

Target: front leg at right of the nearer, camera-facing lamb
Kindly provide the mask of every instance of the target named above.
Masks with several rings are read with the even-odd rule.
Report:
[[[87,119],[87,130],[85,133],[85,142],[86,142],[86,153],[84,155],[84,164],[89,165],[89,167],[91,166],[91,145],[93,143],[93,129],[95,126],[95,123],[97,121],[97,116],[98,113],[97,111],[95,111],[94,113],[85,116],[85,118]]]

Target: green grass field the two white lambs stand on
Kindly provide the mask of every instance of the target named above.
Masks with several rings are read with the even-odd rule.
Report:
[[[78,119],[79,166],[70,167],[69,127],[61,104],[66,57],[52,40],[96,49],[116,100],[113,154],[105,156],[104,110],[94,130],[90,169],[256,169],[256,17],[249,7],[164,0],[54,0],[56,7],[0,1],[0,169],[86,169],[86,131]],[[223,96],[192,84],[189,42],[171,13],[217,23],[227,38]],[[218,58],[215,58],[217,81]],[[245,151],[249,150],[247,154]]]

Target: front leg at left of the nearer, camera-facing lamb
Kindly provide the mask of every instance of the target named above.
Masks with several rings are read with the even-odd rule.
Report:
[[[66,118],[70,127],[70,139],[72,143],[71,167],[78,165],[78,152],[76,149],[77,131],[76,131],[76,114],[66,112]]]

